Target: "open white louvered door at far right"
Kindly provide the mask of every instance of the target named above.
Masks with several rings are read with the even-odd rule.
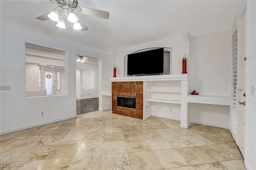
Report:
[[[245,77],[245,29],[244,17],[238,18],[238,28],[232,36],[232,101],[230,131],[241,148],[244,147],[244,109],[246,108]],[[237,34],[237,35],[236,35]]]

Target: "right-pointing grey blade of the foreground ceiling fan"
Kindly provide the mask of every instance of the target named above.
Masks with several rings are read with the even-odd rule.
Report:
[[[86,15],[90,15],[90,16],[96,16],[96,17],[104,18],[104,19],[109,18],[109,12],[106,12],[106,11],[95,10],[95,9],[86,8],[86,7],[83,7],[83,6],[78,6],[77,8],[81,8],[81,10],[77,9],[77,11],[82,13],[82,14],[86,14]]]

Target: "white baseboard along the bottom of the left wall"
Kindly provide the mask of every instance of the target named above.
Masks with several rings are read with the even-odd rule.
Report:
[[[49,120],[49,121],[33,123],[33,124],[30,124],[30,125],[25,125],[25,126],[21,126],[21,127],[9,128],[9,129],[0,131],[0,134],[16,132],[18,130],[24,130],[24,129],[27,129],[27,128],[38,127],[38,126],[41,126],[41,125],[46,125],[46,124],[54,123],[54,122],[58,122],[58,121],[64,121],[66,119],[71,119],[71,118],[75,118],[75,117],[76,117],[76,115],[71,115],[71,116],[66,116],[66,117],[60,117],[60,118],[57,118],[57,119],[52,119],[52,120]]]

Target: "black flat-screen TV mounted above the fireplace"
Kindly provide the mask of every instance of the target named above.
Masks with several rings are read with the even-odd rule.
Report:
[[[155,75],[164,72],[164,48],[128,54],[127,75]]]

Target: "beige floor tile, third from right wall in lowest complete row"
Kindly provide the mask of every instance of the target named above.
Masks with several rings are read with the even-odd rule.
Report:
[[[191,165],[217,162],[198,147],[176,149]]]

